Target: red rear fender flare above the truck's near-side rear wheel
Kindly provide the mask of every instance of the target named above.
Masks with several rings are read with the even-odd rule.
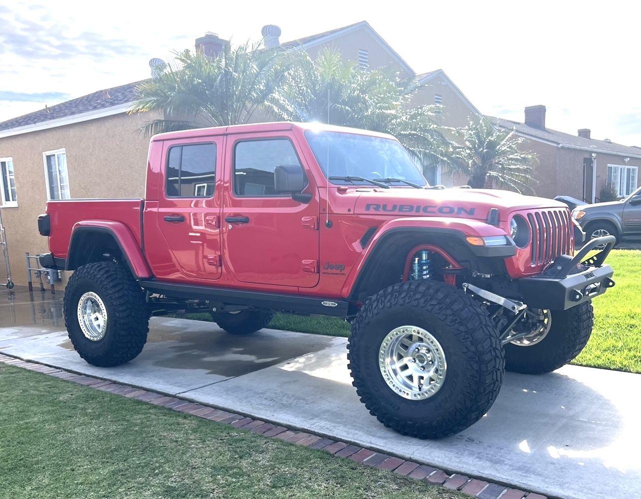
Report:
[[[83,253],[81,252],[82,240],[85,236],[96,233],[108,234],[113,238],[121,250],[131,274],[136,279],[151,279],[153,277],[145,256],[140,249],[140,244],[131,230],[129,230],[129,227],[122,224],[122,222],[110,220],[83,220],[73,226],[69,251],[67,252],[66,270],[75,270],[78,266],[88,263],[84,261]]]

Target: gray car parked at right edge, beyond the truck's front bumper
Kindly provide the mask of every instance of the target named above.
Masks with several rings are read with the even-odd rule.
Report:
[[[641,241],[641,187],[625,199],[577,206],[572,218],[585,231],[586,239],[615,236],[622,241]]]

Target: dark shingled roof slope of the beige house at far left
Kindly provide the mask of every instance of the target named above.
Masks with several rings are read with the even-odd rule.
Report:
[[[99,111],[133,102],[136,99],[136,88],[143,81],[147,80],[135,81],[133,83],[127,83],[126,85],[98,90],[92,94],[72,99],[71,101],[61,102],[46,109],[6,120],[0,123],[0,131],[66,118],[90,111]]]

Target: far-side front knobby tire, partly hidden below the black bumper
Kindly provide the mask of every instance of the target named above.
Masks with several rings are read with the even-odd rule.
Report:
[[[592,302],[565,311],[550,311],[550,328],[534,345],[505,345],[505,369],[522,374],[553,372],[578,356],[590,339],[594,325]],[[515,343],[517,343],[515,341]]]

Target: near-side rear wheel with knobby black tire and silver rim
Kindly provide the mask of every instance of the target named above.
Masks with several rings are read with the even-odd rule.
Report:
[[[149,311],[127,268],[113,262],[80,266],[65,288],[63,307],[69,339],[88,363],[119,366],[142,352]]]

